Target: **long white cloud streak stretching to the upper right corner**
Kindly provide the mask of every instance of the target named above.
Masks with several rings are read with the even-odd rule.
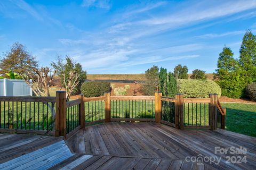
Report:
[[[221,1],[223,2],[223,1]],[[206,4],[207,3],[207,4]],[[210,6],[205,8],[205,6]],[[220,3],[209,1],[204,3],[196,3],[195,5],[184,8],[181,12],[171,14],[169,16],[155,17],[141,21],[142,24],[158,25],[158,24],[185,24],[207,19],[219,18],[221,16],[231,15],[256,7],[256,1],[225,1]],[[196,10],[196,11],[194,11]]]

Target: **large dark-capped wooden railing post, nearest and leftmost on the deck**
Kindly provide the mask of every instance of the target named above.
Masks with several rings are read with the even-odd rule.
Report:
[[[56,91],[55,137],[66,137],[66,91]]]

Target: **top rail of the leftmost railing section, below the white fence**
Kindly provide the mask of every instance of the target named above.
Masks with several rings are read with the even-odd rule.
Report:
[[[27,102],[52,102],[55,103],[55,97],[31,97],[31,96],[0,96],[0,101],[27,101]]]

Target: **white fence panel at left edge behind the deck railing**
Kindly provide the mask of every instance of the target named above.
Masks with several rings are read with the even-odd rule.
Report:
[[[32,96],[32,90],[25,80],[2,79],[0,96]]]

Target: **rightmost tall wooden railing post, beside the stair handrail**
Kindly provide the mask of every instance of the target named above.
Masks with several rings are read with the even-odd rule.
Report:
[[[211,130],[217,129],[217,103],[218,96],[217,94],[209,94],[210,97],[210,109],[209,109],[209,125]]]

